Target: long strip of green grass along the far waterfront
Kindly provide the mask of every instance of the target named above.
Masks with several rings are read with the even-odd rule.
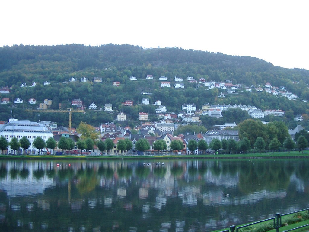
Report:
[[[245,158],[309,158],[309,152],[275,152],[248,154],[202,154],[202,155],[0,155],[0,159],[245,159]]]

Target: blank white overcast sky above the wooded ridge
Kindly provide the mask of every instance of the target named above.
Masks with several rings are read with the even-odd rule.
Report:
[[[130,44],[251,56],[309,70],[307,0],[15,0],[0,46]]]

